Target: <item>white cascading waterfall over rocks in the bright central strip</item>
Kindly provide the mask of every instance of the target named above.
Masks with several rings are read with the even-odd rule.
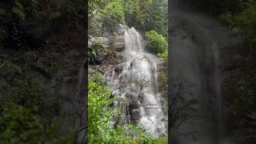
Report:
[[[157,66],[159,59],[145,50],[141,34],[134,28],[125,30],[126,48],[123,62],[114,66],[109,84],[115,91],[115,107],[121,107],[122,124],[141,124],[155,137],[165,135],[162,101],[158,93]],[[162,130],[162,132],[159,132]]]

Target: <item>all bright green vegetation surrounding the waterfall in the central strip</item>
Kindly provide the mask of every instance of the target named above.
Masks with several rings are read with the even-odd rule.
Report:
[[[166,0],[89,0],[89,32],[91,37],[110,37],[114,43],[116,33],[114,26],[118,24],[134,27],[140,31],[146,40],[146,50],[162,58],[166,67],[167,62],[167,1]],[[166,138],[152,138],[141,126],[110,125],[113,115],[113,96],[110,88],[102,80],[102,73],[106,72],[107,63],[116,63],[120,59],[120,52],[104,46],[98,40],[92,42],[89,49],[89,101],[88,101],[88,139],[90,143],[166,143]],[[110,45],[111,47],[111,45]],[[106,57],[107,56],[107,57]],[[103,64],[97,67],[97,61]],[[104,64],[106,63],[106,65]],[[162,85],[167,86],[166,70],[162,70]]]

